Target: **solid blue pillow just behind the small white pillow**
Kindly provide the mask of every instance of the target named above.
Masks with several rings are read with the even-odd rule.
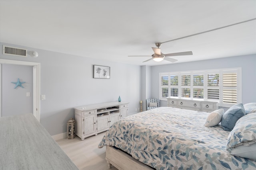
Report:
[[[222,116],[220,125],[225,131],[232,131],[236,121],[245,115],[245,109],[242,103],[230,107]]]

